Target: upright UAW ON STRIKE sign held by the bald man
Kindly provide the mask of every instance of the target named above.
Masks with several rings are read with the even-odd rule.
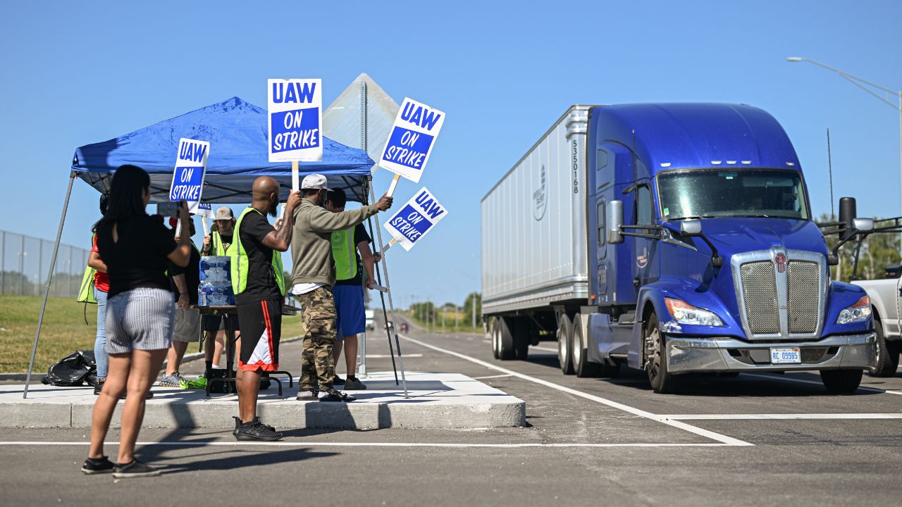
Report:
[[[323,160],[322,79],[269,79],[271,162]]]

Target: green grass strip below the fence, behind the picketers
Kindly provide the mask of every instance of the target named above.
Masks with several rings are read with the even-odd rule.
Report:
[[[41,297],[0,295],[0,372],[28,371],[40,314]],[[51,364],[76,350],[93,350],[96,333],[97,305],[87,305],[86,312],[85,303],[74,299],[48,299],[34,371],[46,372]],[[300,314],[282,318],[281,336],[303,334]],[[189,352],[197,352],[197,348],[189,348]]]

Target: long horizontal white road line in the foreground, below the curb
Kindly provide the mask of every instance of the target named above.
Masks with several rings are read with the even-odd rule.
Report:
[[[90,442],[36,442],[36,441],[11,441],[0,442],[0,447],[7,446],[89,446]],[[110,443],[109,445],[115,445]],[[135,442],[138,446],[168,446],[168,447],[732,447],[732,444],[456,444],[456,443],[428,443],[428,442]]]

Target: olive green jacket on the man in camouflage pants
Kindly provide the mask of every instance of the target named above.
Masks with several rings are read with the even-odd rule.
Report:
[[[308,198],[294,210],[294,233],[291,236],[291,283],[326,283],[335,285],[336,264],[332,258],[332,233],[361,224],[379,210],[376,205],[332,213]]]

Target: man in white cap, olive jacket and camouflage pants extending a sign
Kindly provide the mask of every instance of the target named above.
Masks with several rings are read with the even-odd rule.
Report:
[[[391,197],[360,209],[332,213],[325,207],[327,180],[311,174],[300,185],[302,199],[294,211],[294,235],[291,238],[291,291],[297,295],[303,312],[304,351],[300,361],[298,400],[312,394],[319,401],[354,401],[354,397],[333,387],[336,376],[332,346],[336,340],[336,304],[332,286],[336,282],[332,258],[332,233],[361,224],[369,217],[391,207]],[[316,375],[314,376],[314,372]]]

